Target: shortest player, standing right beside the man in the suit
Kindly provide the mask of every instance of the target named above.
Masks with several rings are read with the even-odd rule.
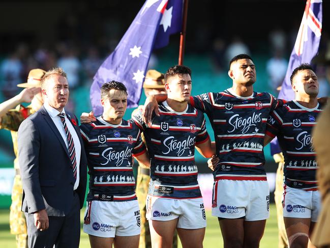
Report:
[[[83,230],[92,247],[138,247],[140,211],[132,155],[149,167],[148,156],[139,127],[123,119],[126,87],[105,83],[101,104],[103,115],[80,126],[90,175]]]

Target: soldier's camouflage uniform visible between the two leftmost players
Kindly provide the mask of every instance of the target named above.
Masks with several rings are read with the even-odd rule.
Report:
[[[132,116],[136,115],[142,108],[142,105],[138,106],[138,108],[134,109]],[[142,140],[145,144],[144,135],[141,134]],[[146,197],[149,189],[149,181],[150,181],[150,169],[145,167],[143,164],[139,164],[139,168],[137,171],[137,179],[136,179],[136,196],[140,207],[140,216],[141,216],[141,234],[140,234],[140,242],[139,248],[151,248],[151,236],[149,223],[145,217],[146,214]],[[177,232],[174,232],[172,247],[177,247]]]

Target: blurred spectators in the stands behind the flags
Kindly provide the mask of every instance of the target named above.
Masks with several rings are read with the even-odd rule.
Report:
[[[291,37],[292,36],[292,37]],[[116,43],[118,43],[117,39]],[[288,60],[295,41],[293,35],[286,34],[281,29],[269,32],[268,41],[265,42],[267,52],[251,51],[249,44],[239,36],[231,41],[222,38],[213,40],[212,50],[205,53],[213,64],[213,72],[227,73],[228,61],[239,53],[251,54],[255,61],[261,56],[265,60],[264,70],[268,76],[268,88],[265,91],[277,95],[277,88],[282,84],[285,77]],[[189,42],[189,41],[188,41]],[[76,41],[61,41],[55,45],[40,44],[32,49],[26,43],[17,44],[12,52],[0,54],[0,86],[3,100],[18,94],[17,84],[23,82],[29,70],[42,68],[48,70],[59,66],[68,74],[70,90],[78,87],[88,87],[93,82],[93,77],[110,52],[116,46],[114,40],[108,41],[108,49],[100,46],[85,46],[81,48]],[[102,55],[101,55],[102,54]],[[159,63],[160,53],[156,51],[149,63],[149,68],[155,68]],[[261,54],[261,55],[260,55]],[[159,56],[159,58],[157,57]],[[314,59],[320,84],[320,96],[330,94],[330,39],[327,34],[322,34],[319,56]]]

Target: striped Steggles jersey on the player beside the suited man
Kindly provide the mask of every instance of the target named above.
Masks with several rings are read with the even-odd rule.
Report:
[[[136,200],[132,155],[146,151],[136,124],[122,120],[112,125],[100,116],[96,122],[82,124],[80,132],[90,176],[87,201]]]

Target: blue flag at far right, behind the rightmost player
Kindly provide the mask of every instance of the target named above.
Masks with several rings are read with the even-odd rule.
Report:
[[[322,31],[322,0],[307,0],[303,20],[300,24],[298,35],[291,52],[288,69],[279,98],[293,100],[294,92],[291,88],[290,76],[292,71],[303,63],[311,63],[316,56],[320,44]],[[271,153],[279,153],[277,139],[271,142]]]

